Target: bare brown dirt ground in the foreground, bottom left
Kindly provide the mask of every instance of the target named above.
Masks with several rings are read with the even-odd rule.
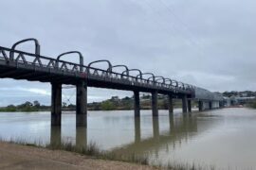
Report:
[[[50,150],[43,147],[9,144],[0,142],[0,169],[141,169],[153,170],[155,167],[123,161],[105,161],[93,157]]]

